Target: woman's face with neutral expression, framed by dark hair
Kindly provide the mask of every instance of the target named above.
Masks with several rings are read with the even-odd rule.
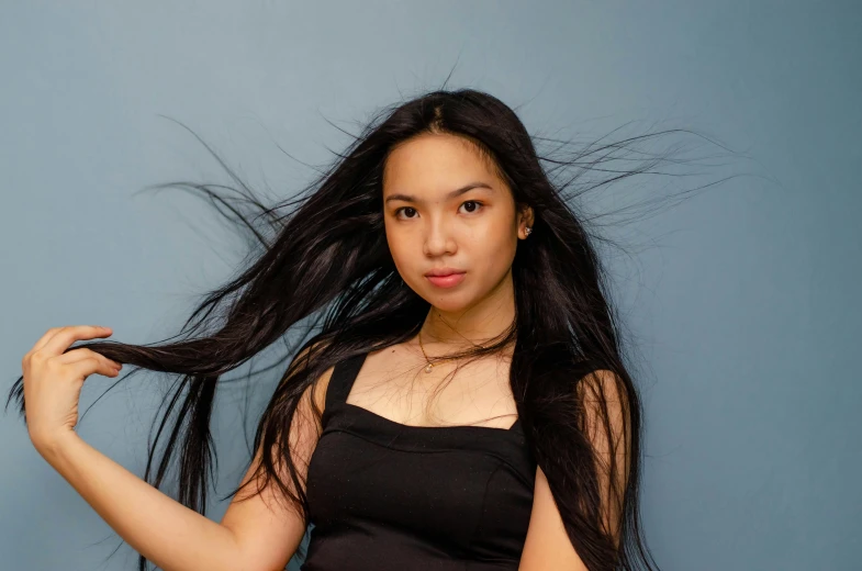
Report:
[[[467,310],[511,279],[531,215],[516,212],[507,184],[462,137],[417,136],[395,148],[383,169],[383,220],[395,267],[440,311]]]

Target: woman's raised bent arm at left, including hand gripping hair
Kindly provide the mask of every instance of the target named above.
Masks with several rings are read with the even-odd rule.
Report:
[[[110,329],[89,326],[48,331],[24,357],[27,429],[43,458],[135,550],[165,571],[284,569],[305,533],[305,522],[277,501],[276,486],[239,502],[234,499],[223,522],[190,510],[83,441],[74,430],[83,380],[94,372],[119,373],[110,359],[78,348],[74,340],[104,337]],[[324,387],[332,369],[326,372]],[[315,391],[323,408],[324,391]],[[291,426],[292,458],[306,473],[320,426],[311,412],[311,387]],[[246,474],[254,473],[260,450]],[[287,474],[280,474],[289,481]]]

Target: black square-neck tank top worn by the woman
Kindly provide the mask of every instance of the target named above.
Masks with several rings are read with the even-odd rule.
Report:
[[[408,426],[348,404],[366,356],[329,379],[301,571],[516,571],[536,480],[520,421]]]

